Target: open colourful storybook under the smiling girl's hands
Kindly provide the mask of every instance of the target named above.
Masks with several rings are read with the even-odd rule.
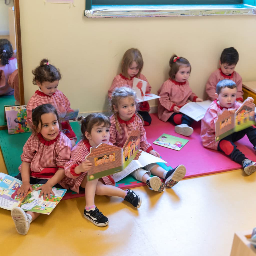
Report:
[[[0,173],[0,207],[12,210],[14,207],[21,207],[24,211],[38,212],[49,215],[65,195],[67,189],[52,188],[54,196],[45,200],[39,194],[41,190],[28,191],[26,196],[17,198],[17,191],[22,185],[22,181],[8,174]],[[32,185],[33,189],[38,188],[39,184]]]

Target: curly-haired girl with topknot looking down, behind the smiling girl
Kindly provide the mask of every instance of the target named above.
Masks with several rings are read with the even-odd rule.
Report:
[[[59,69],[49,64],[47,59],[42,59],[40,65],[33,70],[33,75],[33,84],[36,84],[39,89],[30,98],[27,104],[27,122],[29,125],[32,125],[32,110],[41,104],[52,104],[59,115],[73,111],[73,109],[70,108],[68,98],[57,89],[59,80],[61,79]],[[61,122],[61,129],[71,140],[72,146],[76,145],[77,137],[68,120]]]

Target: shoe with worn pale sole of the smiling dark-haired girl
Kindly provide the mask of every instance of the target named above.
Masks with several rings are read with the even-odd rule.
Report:
[[[32,216],[27,214],[20,207],[13,208],[11,215],[17,232],[21,235],[27,234],[30,227],[30,222],[32,221]]]

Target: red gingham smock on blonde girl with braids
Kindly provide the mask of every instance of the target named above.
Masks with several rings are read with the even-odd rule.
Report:
[[[138,130],[141,132],[141,141],[140,141],[140,147],[142,148],[143,151],[149,153],[153,147],[151,146],[150,143],[147,142],[147,137],[146,137],[146,131],[143,127],[141,119],[134,114],[132,118],[129,121],[124,121],[119,118],[119,115],[117,115],[118,118],[118,124],[121,130],[121,133],[116,130],[115,127],[115,116],[112,115],[110,116],[110,138],[109,141],[113,143],[113,145],[118,146],[118,147],[123,147],[124,143],[126,142],[130,132],[132,130],[136,130],[136,127],[138,127]]]

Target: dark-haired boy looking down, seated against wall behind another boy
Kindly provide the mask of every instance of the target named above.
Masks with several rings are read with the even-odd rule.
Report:
[[[243,102],[242,78],[235,71],[238,60],[239,54],[234,47],[229,47],[222,51],[220,56],[220,68],[211,73],[206,83],[205,91],[209,100],[213,101],[216,99],[216,85],[220,80],[231,79],[237,85],[236,100],[240,103]]]

